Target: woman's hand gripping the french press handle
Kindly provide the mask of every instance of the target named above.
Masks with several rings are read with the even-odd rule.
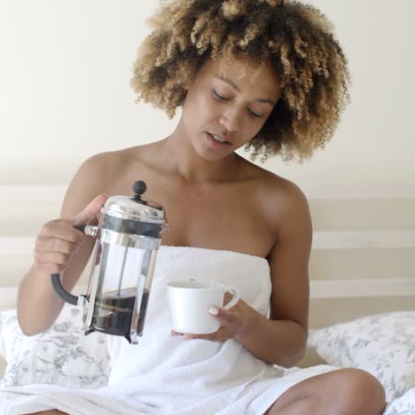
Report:
[[[106,199],[105,194],[100,194],[77,215],[45,223],[35,239],[34,268],[49,275],[66,270],[74,254],[90,238],[74,226],[96,221]]]

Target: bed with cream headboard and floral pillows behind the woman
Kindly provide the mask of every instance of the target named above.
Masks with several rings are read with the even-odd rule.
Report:
[[[106,339],[83,336],[78,309],[67,305],[48,332],[31,338],[16,324],[17,286],[34,236],[58,215],[64,192],[65,186],[0,186],[0,385],[106,384]],[[372,372],[387,392],[385,415],[415,414],[415,199],[311,195],[309,204],[315,229],[310,334],[299,366]],[[78,293],[85,292],[86,274]]]

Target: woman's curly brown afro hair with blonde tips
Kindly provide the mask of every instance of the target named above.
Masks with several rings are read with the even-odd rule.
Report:
[[[270,63],[281,98],[247,144],[253,159],[308,159],[333,137],[348,104],[347,58],[333,26],[315,7],[284,0],[169,0],[150,20],[131,87],[173,117],[185,87],[207,59]]]

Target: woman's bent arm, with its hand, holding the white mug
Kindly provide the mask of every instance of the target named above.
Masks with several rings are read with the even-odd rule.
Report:
[[[184,339],[239,340],[255,356],[291,367],[304,356],[309,318],[309,252],[312,226],[309,205],[296,187],[278,204],[278,237],[268,260],[272,292],[270,319],[239,301],[215,309],[221,328],[212,334],[184,334]]]

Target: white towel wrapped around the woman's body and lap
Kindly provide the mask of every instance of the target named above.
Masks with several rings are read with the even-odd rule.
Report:
[[[259,414],[301,380],[335,368],[290,370],[266,364],[239,341],[184,341],[170,335],[166,284],[177,279],[236,286],[266,316],[270,268],[264,258],[230,251],[161,247],[138,345],[108,336],[109,386],[95,390],[30,385],[0,391],[0,413],[59,409],[70,414]],[[93,334],[91,334],[93,335]]]

